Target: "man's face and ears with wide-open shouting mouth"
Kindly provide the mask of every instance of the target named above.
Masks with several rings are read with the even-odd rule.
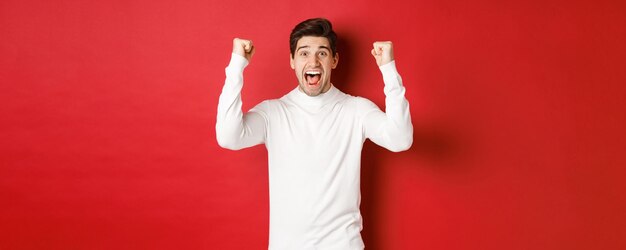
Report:
[[[326,37],[303,36],[291,55],[291,68],[296,72],[300,90],[317,96],[330,89],[330,71],[337,67],[338,55],[333,55]]]

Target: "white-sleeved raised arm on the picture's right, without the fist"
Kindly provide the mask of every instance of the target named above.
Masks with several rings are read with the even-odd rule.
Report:
[[[413,144],[413,125],[405,88],[395,61],[380,66],[385,82],[385,113],[375,108],[363,118],[365,136],[393,152],[407,150]]]

